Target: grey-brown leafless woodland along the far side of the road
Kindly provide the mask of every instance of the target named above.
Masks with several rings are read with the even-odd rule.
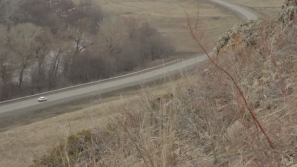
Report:
[[[108,16],[94,0],[0,0],[0,101],[105,79],[173,52],[148,23]]]

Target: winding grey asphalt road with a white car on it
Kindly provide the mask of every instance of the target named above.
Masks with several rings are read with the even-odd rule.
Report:
[[[228,8],[242,16],[245,20],[256,20],[257,14],[240,5],[229,3],[223,0],[209,0],[216,5]],[[194,66],[206,60],[206,55],[197,55],[197,57],[173,63],[162,68],[154,69],[145,73],[133,75],[131,77],[119,78],[106,81],[101,84],[92,84],[89,86],[78,87],[76,89],[65,90],[57,93],[49,93],[42,96],[48,98],[47,102],[39,103],[36,97],[29,97],[18,101],[0,104],[0,118],[13,116],[15,114],[25,113],[27,111],[42,109],[56,104],[62,104],[68,101],[80,99],[96,93],[107,93],[114,90],[120,90],[128,86],[139,85],[162,78],[164,75],[176,73],[181,70]]]

